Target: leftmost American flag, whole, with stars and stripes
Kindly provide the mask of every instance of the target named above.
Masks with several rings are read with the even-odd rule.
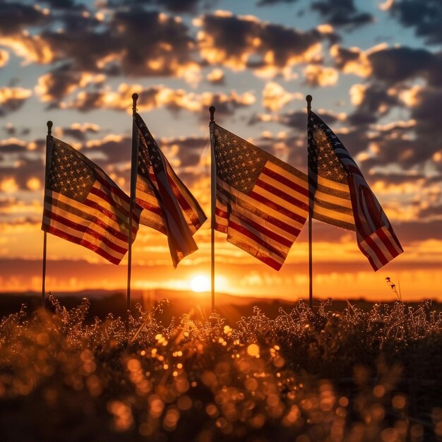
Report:
[[[129,249],[129,196],[70,145],[52,138],[48,148],[42,230],[118,265]],[[133,213],[133,240],[139,213]]]

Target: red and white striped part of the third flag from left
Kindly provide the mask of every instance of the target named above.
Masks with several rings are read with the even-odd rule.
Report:
[[[308,215],[307,177],[301,172],[291,173],[269,160],[247,195],[217,178],[215,228],[275,270],[280,270]]]

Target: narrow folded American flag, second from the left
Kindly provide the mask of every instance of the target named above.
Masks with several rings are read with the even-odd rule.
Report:
[[[177,177],[143,119],[135,113],[138,128],[138,174],[136,203],[141,205],[140,223],[167,235],[174,267],[198,247],[193,234],[207,219],[203,209]]]

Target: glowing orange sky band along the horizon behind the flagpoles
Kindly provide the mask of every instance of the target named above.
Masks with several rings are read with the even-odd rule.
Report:
[[[313,234],[318,222],[313,222]],[[196,233],[199,249],[184,258],[177,269],[164,236],[141,227],[133,246],[134,289],[191,288],[197,275],[210,275],[209,222]],[[326,226],[330,235],[337,228]],[[442,241],[420,241],[406,253],[374,273],[357,248],[353,233],[341,241],[316,241],[313,246],[313,288],[317,297],[392,300],[395,294],[386,283],[391,277],[400,288],[402,298],[442,299],[442,258],[438,251]],[[7,238],[7,240],[6,240]],[[285,265],[279,272],[225,241],[216,233],[216,289],[231,294],[253,294],[286,299],[308,299],[308,243],[306,226],[294,243]],[[0,244],[6,244],[8,260],[0,261],[2,291],[41,290],[42,232],[38,227],[2,232]],[[47,289],[71,292],[84,289],[120,289],[126,287],[126,258],[117,267],[95,253],[58,237],[48,236]],[[14,256],[15,255],[15,256]],[[11,259],[15,258],[15,259]]]

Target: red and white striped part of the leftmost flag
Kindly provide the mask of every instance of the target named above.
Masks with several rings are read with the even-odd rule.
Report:
[[[96,170],[96,172],[100,172]],[[98,177],[83,203],[46,189],[42,229],[95,251],[119,264],[129,249],[129,197],[104,176]],[[133,213],[133,240],[139,210]]]

